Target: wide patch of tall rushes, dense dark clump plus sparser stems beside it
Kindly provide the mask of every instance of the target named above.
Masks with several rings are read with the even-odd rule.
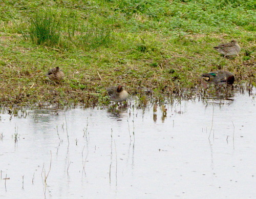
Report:
[[[52,10],[37,12],[29,20],[29,28],[21,26],[20,32],[36,45],[60,46],[63,49],[95,49],[99,46],[108,47],[113,40],[113,30],[104,22],[84,23],[66,21]]]

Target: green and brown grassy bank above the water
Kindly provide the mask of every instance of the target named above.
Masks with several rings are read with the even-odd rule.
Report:
[[[255,83],[253,0],[13,1],[0,7],[0,101],[108,104],[124,85],[145,101],[200,88],[202,73]],[[237,57],[213,47],[236,39]],[[59,67],[63,82],[46,73]]]

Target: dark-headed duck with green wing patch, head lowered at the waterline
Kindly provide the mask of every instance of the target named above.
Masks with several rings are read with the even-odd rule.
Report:
[[[204,73],[201,76],[205,81],[216,85],[233,84],[234,82],[234,75],[228,71]]]

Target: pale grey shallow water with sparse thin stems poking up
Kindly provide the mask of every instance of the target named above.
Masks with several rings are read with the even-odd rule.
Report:
[[[254,95],[2,113],[0,197],[255,198]]]

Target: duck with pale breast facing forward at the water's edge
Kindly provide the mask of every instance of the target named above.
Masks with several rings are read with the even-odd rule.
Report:
[[[127,91],[123,90],[123,87],[121,85],[118,86],[112,86],[107,89],[108,94],[110,96],[110,99],[115,102],[122,102],[127,99],[129,94]]]

